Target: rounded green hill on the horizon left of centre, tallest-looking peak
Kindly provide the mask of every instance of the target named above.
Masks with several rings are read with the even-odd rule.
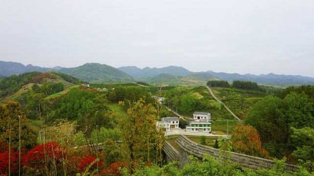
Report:
[[[104,83],[111,80],[135,82],[132,76],[105,64],[87,63],[73,68],[61,68],[59,72],[91,83]]]

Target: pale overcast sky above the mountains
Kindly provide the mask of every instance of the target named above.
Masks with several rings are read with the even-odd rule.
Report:
[[[314,77],[314,0],[1,0],[0,60]]]

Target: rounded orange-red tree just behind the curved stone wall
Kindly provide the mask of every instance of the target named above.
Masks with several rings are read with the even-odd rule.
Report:
[[[233,152],[271,159],[262,147],[260,135],[251,126],[237,126],[231,137]]]

